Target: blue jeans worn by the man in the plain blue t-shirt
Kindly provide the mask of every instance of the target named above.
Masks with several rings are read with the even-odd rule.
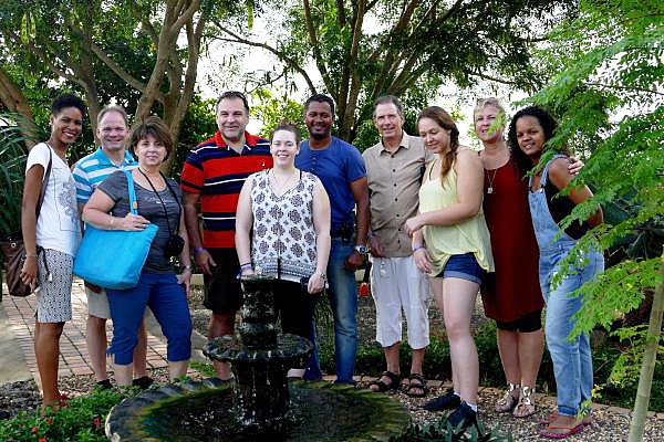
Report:
[[[355,273],[343,267],[353,249],[354,241],[352,239],[332,238],[328,261],[328,295],[334,316],[335,383],[355,383],[353,371],[357,351],[357,285]],[[314,350],[312,364],[310,364],[304,378],[321,378],[318,348]]]

